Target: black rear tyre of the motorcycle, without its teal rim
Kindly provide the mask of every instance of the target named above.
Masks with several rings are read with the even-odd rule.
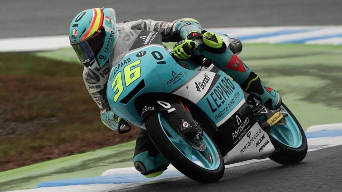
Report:
[[[287,110],[287,112],[292,116],[293,120],[297,124],[302,136],[302,145],[298,148],[292,148],[284,145],[283,143],[272,137],[272,135],[268,134],[275,149],[275,151],[269,156],[269,159],[282,165],[298,164],[303,161],[307,153],[306,136],[302,126],[299,124],[298,120],[295,118],[289,108],[287,108],[283,103],[281,106]]]

